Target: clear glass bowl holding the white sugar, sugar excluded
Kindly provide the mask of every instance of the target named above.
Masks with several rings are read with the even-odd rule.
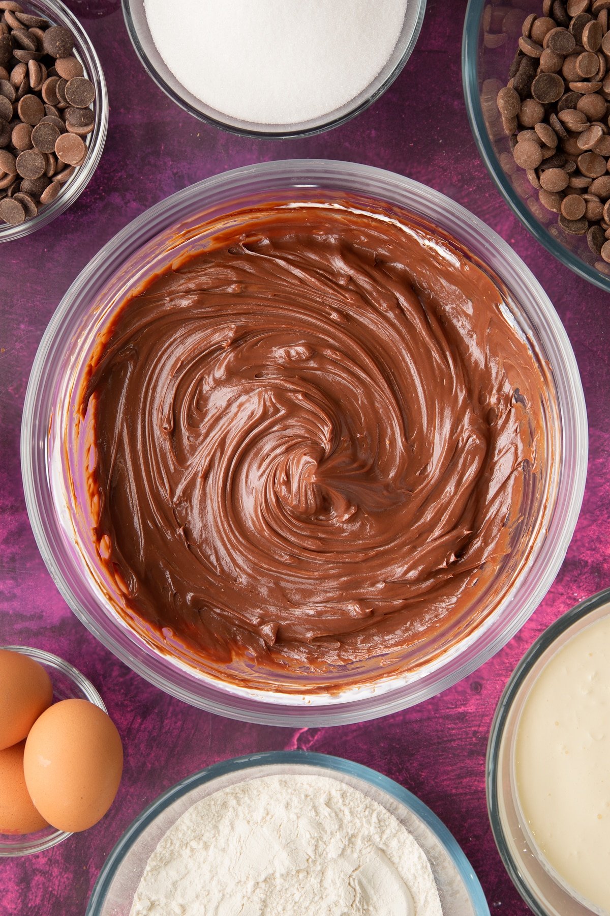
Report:
[[[386,65],[366,89],[335,111],[300,124],[260,124],[259,122],[241,121],[239,118],[231,117],[230,114],[224,114],[211,108],[196,95],[189,93],[182,83],[177,81],[155,48],[144,11],[144,0],[123,0],[123,16],[134,49],[144,64],[144,70],[155,80],[157,86],[188,114],[194,114],[201,121],[222,127],[233,134],[284,139],[289,136],[320,134],[325,130],[330,130],[331,127],[344,124],[373,104],[382,93],[385,93],[411,57],[412,49],[415,47],[422,28],[425,5],[426,0],[409,0],[401,36],[396,47]]]

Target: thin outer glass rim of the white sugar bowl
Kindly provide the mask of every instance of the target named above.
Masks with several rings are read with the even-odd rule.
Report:
[[[250,127],[240,127],[238,125],[230,124],[226,121],[222,121],[220,118],[212,117],[210,114],[204,114],[203,112],[198,111],[193,105],[187,102],[187,99],[184,99],[181,95],[174,91],[174,89],[164,80],[159,71],[155,68],[152,61],[149,59],[148,54],[144,49],[143,42],[140,38],[140,34],[135,26],[134,16],[132,15],[132,7],[137,0],[121,0],[121,5],[123,8],[123,19],[125,22],[125,27],[129,38],[134,46],[135,53],[140,60],[140,63],[144,67],[144,70],[148,73],[150,78],[156,83],[156,85],[167,97],[172,100],[175,104],[179,105],[187,114],[192,114],[193,117],[198,118],[199,121],[203,121],[205,124],[209,124],[214,127],[219,127],[220,130],[227,131],[230,134],[236,134],[237,136],[249,136],[258,139],[267,139],[267,140],[287,140],[303,136],[316,136],[316,134],[323,134],[327,130],[332,130],[333,127],[338,127],[339,125],[345,124],[347,121],[350,121],[353,117],[356,117],[360,112],[365,111],[369,108],[369,105],[373,104],[380,98],[387,89],[390,88],[392,82],[400,75],[403,67],[407,63],[407,60],[412,55],[412,52],[419,38],[420,32],[423,26],[423,16],[425,14],[427,0],[410,0],[410,2],[417,4],[416,19],[413,24],[412,33],[409,36],[406,45],[401,53],[400,58],[396,61],[391,72],[388,74],[386,79],[377,87],[374,93],[366,96],[362,101],[355,105],[353,108],[349,109],[344,114],[339,115],[336,118],[331,117],[330,115],[333,112],[329,112],[329,118],[327,121],[322,124],[316,125],[314,127],[298,127],[295,126],[294,130],[285,130],[279,129],[275,131],[271,130],[255,130]],[[144,5],[144,0],[143,0]],[[406,14],[405,14],[406,15]],[[393,53],[393,51],[392,51]],[[373,78],[374,80],[375,78]],[[367,87],[368,88],[368,87]],[[362,91],[366,92],[366,89]],[[355,98],[362,93],[358,93]],[[349,104],[349,103],[346,103]],[[219,112],[221,114],[221,112]],[[324,116],[324,115],[322,115]],[[279,125],[278,125],[279,126]],[[288,126],[288,125],[285,125]]]

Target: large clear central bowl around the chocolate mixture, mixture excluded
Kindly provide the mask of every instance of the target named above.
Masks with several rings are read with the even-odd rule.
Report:
[[[497,573],[497,594],[473,607],[473,615],[485,618],[484,623],[467,636],[452,632],[451,639],[435,647],[432,661],[420,659],[416,667],[417,660],[409,660],[399,676],[378,680],[385,674],[380,660],[374,672],[377,662],[370,663],[371,686],[307,695],[304,674],[304,694],[291,696],[206,678],[127,626],[97,578],[91,536],[85,529],[80,533],[80,514],[70,508],[71,487],[78,489],[74,481],[83,476],[70,429],[73,392],[78,392],[79,374],[98,330],[141,278],[197,248],[206,224],[226,214],[262,202],[318,201],[321,196],[398,218],[406,212],[408,219],[449,234],[452,244],[476,259],[502,289],[511,320],[530,344],[532,358],[544,367],[555,400],[545,418],[551,459],[540,488],[547,500],[540,501],[519,551]],[[213,713],[269,725],[338,725],[420,703],[474,671],[522,626],[550,587],[572,538],[583,498],[587,425],[580,376],[562,322],[528,268],[487,225],[442,194],[391,172],[346,162],[289,160],[236,169],[179,191],[102,248],[70,287],[41,341],[27,387],[21,447],[27,510],[48,570],[74,613],[118,658],[166,692]],[[77,469],[71,477],[67,463],[69,470]],[[526,559],[518,562],[516,554]]]

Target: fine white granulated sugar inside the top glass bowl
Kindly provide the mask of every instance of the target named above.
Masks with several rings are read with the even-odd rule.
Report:
[[[156,49],[190,93],[259,124],[308,121],[382,70],[408,0],[144,0]]]

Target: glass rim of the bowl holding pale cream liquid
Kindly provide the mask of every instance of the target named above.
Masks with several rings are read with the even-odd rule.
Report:
[[[589,614],[593,614],[594,611],[602,605],[608,603],[610,603],[610,588],[605,588],[602,589],[601,592],[596,592],[591,595],[589,598],[584,598],[583,601],[580,601],[577,605],[565,611],[562,616],[558,617],[557,620],[554,620],[549,627],[542,631],[510,675],[507,685],[498,700],[498,705],[489,729],[485,769],[487,815],[491,825],[491,832],[498,847],[498,853],[502,859],[502,863],[508,871],[509,878],[519,891],[520,896],[530,907],[530,910],[535,913],[535,916],[549,916],[549,914],[542,908],[539,900],[533,895],[533,892],[530,890],[530,885],[520,872],[519,863],[515,861],[510,853],[502,826],[502,820],[498,811],[498,768],[500,764],[502,738],[508,723],[508,717],[512,710],[512,704],[519,696],[521,685],[527,679],[536,662],[540,660],[547,649],[550,649],[552,643],[562,636],[566,630],[582,621]]]

